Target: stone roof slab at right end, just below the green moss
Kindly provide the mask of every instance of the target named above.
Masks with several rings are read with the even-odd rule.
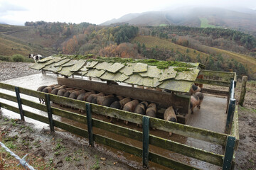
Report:
[[[196,68],[191,68],[191,71],[178,72],[175,80],[196,81],[199,72],[200,70]]]

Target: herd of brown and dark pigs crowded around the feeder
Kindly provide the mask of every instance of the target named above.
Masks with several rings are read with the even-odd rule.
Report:
[[[150,103],[148,101],[139,101],[137,99],[116,96],[114,94],[104,94],[102,92],[97,91],[87,91],[85,89],[75,89],[72,87],[68,87],[65,85],[53,84],[50,86],[40,86],[37,91],[41,91],[48,94],[55,94],[58,96],[64,96],[67,98],[77,99],[79,101],[86,101],[90,103],[95,103],[102,106],[107,106],[110,108],[117,108],[123,111],[129,111],[132,113],[138,113],[141,115],[147,115],[153,118],[156,118],[157,107],[156,103]],[[203,94],[200,92],[200,87],[193,84],[190,89],[191,96],[191,113],[193,114],[193,108],[196,106],[198,108],[201,107],[201,102],[203,101]],[[39,98],[40,103],[44,103],[43,99]],[[61,105],[60,103],[60,106]],[[64,106],[63,106],[64,107]],[[81,111],[82,112],[82,111]],[[176,118],[176,109],[170,106],[166,108],[164,112],[164,120],[168,120],[171,122],[177,122]],[[110,118],[112,122],[112,118]],[[128,121],[124,120],[124,123],[128,125]],[[142,127],[142,125],[137,125]],[[171,135],[171,132],[170,134]]]

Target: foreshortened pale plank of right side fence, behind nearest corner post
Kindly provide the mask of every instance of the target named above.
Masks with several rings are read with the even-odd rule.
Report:
[[[238,149],[239,144],[239,126],[238,126],[238,106],[235,106],[235,113],[231,128],[231,135],[235,137],[235,150]]]

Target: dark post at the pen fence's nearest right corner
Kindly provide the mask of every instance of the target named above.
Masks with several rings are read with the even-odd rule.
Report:
[[[235,137],[228,136],[223,160],[223,170],[230,170],[233,162]]]

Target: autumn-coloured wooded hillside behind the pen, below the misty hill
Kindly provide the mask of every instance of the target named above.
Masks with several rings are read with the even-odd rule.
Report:
[[[237,72],[240,77],[247,74],[256,79],[250,62],[240,62],[238,58],[256,58],[256,38],[238,30],[45,21],[26,22],[25,27],[30,34],[48,40],[46,46],[58,54],[201,62],[206,69]]]

